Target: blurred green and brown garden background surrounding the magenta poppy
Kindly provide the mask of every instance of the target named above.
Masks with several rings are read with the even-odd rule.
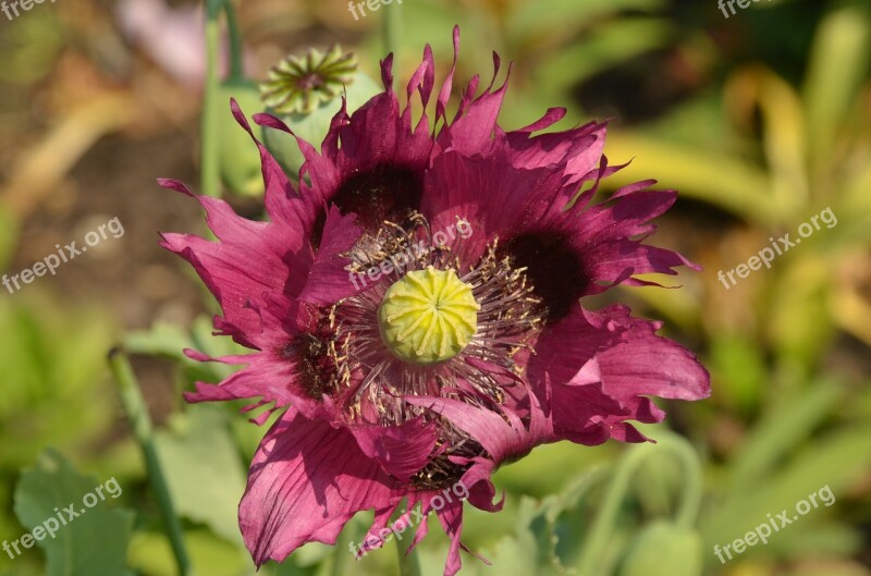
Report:
[[[682,273],[671,282],[679,290],[621,289],[586,304],[616,299],[664,320],[663,333],[712,372],[710,400],[665,403],[666,422],[646,430],[657,438],[670,428],[702,464],[687,550],[700,550],[711,575],[871,575],[871,2],[734,7],[733,14],[714,0],[405,0],[390,7],[400,24],[394,73],[404,88],[430,42],[440,81],[459,24],[455,87],[474,74],[489,82],[493,50],[514,62],[502,126],[529,124],[557,106],[568,109],[561,130],[610,118],[610,162],[633,162],[604,193],[650,177],[679,189],[651,242],[703,271]],[[341,0],[236,3],[246,76],[261,81],[286,54],[339,42],[378,78],[385,10],[355,17]],[[124,229],[57,275],[0,289],[0,540],[33,527],[25,497],[40,475],[84,490],[114,477],[123,495],[89,514],[123,528],[107,534],[113,524],[95,518],[75,529],[115,550],[126,568],[82,572],[83,561],[62,572],[72,564],[58,560],[65,544],[56,540],[14,560],[0,554],[4,576],[177,573],[107,368],[116,344],[133,353],[197,574],[254,574],[235,507],[265,429],[238,406],[182,402],[193,380],[225,372],[181,350],[220,354],[231,344],[210,335],[214,307],[200,282],[157,245],[158,231],[205,231],[195,201],[155,182],[199,188],[204,46],[197,2],[57,0],[0,14],[0,270],[20,273],[113,218]],[[256,191],[225,192],[240,213],[260,216]],[[796,238],[826,208],[836,225],[802,238],[771,269],[729,289],[717,280],[769,238]],[[616,442],[550,445],[500,470],[505,510],[468,512],[464,532],[493,566],[464,555],[461,574],[571,574],[625,452]],[[652,523],[674,515],[688,481],[673,455],[645,458],[612,518],[603,576],[692,574],[664,560],[638,572],[627,561]],[[717,560],[715,544],[823,487],[833,505],[766,546]],[[81,499],[70,490],[54,505]],[[365,524],[353,522],[343,538],[359,541]],[[306,547],[260,574],[397,574],[395,553],[355,563],[346,541],[335,551]],[[446,546],[432,523],[424,574],[442,573]]]

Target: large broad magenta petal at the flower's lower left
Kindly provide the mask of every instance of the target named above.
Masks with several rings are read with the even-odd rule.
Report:
[[[291,408],[252,463],[238,511],[245,546],[261,566],[306,542],[333,544],[354,514],[398,501],[395,486],[346,428]]]

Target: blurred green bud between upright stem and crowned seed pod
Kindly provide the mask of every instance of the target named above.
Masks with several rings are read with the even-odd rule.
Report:
[[[230,98],[235,98],[245,115],[250,118],[263,111],[257,84],[249,79],[230,79],[221,84],[217,98],[224,110],[218,128],[221,144],[219,161],[221,180],[231,192],[245,196],[262,196],[263,180],[260,171],[260,154],[250,136],[238,125],[230,113]],[[257,125],[252,126],[255,134]]]

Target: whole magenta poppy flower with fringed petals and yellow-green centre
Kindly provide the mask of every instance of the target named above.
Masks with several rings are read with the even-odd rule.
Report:
[[[454,30],[455,57],[458,30]],[[494,59],[496,72],[499,59]],[[253,354],[191,402],[258,399],[283,414],[252,464],[240,525],[255,562],[334,543],[356,513],[375,511],[357,555],[384,542],[390,519],[436,513],[459,569],[464,500],[495,512],[492,473],[536,445],[643,441],[630,420],[664,417],[650,396],[698,400],[709,377],[695,356],[623,306],[591,311],[584,296],[642,273],[695,267],[643,241],[674,201],[652,181],[592,205],[618,170],[602,156],[605,125],[539,134],[564,111],[504,132],[507,81],[479,96],[477,76],[447,122],[453,69],[434,125],[412,124],[415,93],[434,88],[429,47],[401,110],[391,58],[384,91],[342,108],[294,185],[259,147],[267,222],[197,197],[216,242],[164,234],[221,304],[216,329]],[[495,73],[494,73],[495,77]],[[292,132],[278,119],[255,120]],[[162,185],[191,194],[181,183]],[[586,189],[585,189],[586,188]],[[585,189],[584,192],[579,192]],[[464,498],[457,497],[462,488]],[[405,502],[406,510],[400,511]],[[392,526],[395,526],[394,522]],[[419,523],[416,546],[427,534]]]

